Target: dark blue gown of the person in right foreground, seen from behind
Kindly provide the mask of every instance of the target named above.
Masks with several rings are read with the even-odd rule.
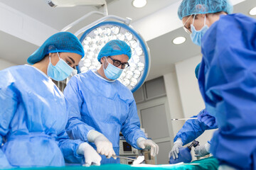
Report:
[[[202,41],[199,86],[218,131],[210,152],[238,169],[256,169],[256,20],[220,16]]]

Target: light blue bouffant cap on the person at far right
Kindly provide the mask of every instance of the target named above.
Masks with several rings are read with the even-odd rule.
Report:
[[[233,12],[233,5],[229,0],[183,0],[178,7],[178,18],[200,13]]]

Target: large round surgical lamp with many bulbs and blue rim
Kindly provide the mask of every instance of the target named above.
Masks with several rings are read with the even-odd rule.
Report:
[[[77,21],[70,23],[61,31],[67,31],[94,13],[102,15],[102,18],[81,28],[75,33],[76,36],[82,34],[80,42],[85,50],[85,57],[82,58],[77,67],[78,73],[87,72],[89,69],[99,69],[101,64],[97,60],[97,55],[101,48],[110,40],[123,40],[131,47],[132,58],[129,60],[130,66],[127,69],[124,69],[118,80],[132,92],[137,91],[137,89],[142,86],[149,73],[149,47],[146,45],[142,36],[130,26],[132,19],[108,15],[107,5],[106,3],[103,4],[103,13],[100,13],[99,11],[91,11]],[[68,79],[70,79],[70,77]]]

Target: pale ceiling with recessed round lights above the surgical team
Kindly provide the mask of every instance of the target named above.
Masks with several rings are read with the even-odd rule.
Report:
[[[151,69],[148,79],[174,72],[174,64],[176,62],[200,55],[200,47],[191,42],[189,35],[181,28],[181,23],[177,20],[176,10],[171,10],[170,6],[176,8],[180,0],[147,0],[144,8],[134,8],[132,0],[107,0],[107,2],[109,14],[122,18],[132,18],[131,25],[139,30],[143,37],[146,37],[151,55]],[[248,15],[248,12],[254,6],[256,6],[255,0],[242,1],[240,4],[235,5],[234,12]],[[7,16],[0,15],[1,23],[6,23],[0,25],[0,58],[15,64],[25,64],[28,56],[49,35],[60,31],[90,11],[102,11],[102,8],[94,6],[52,8],[46,4],[45,0],[0,0],[0,14],[2,14],[1,8],[8,9],[12,13],[6,14]],[[167,14],[169,12],[171,13],[169,15],[172,16],[166,16],[167,14],[164,13],[166,11]],[[18,21],[9,19],[11,14],[22,16],[23,22],[18,25]],[[101,17],[99,15],[90,16],[68,31],[75,33],[76,30]],[[164,25],[165,23],[163,25],[156,23],[156,25],[159,25],[156,31],[154,31],[154,26],[152,28],[152,26],[146,25],[149,24],[150,18],[154,19],[151,22],[154,23],[154,21],[161,21],[164,17],[170,18],[170,20],[165,19],[164,21],[171,26],[169,30],[166,29],[168,26]],[[26,23],[24,18],[29,18],[29,23]],[[142,25],[145,27],[144,30],[140,28]],[[23,30],[26,29],[27,33],[19,33],[17,31],[19,27],[23,28]],[[161,30],[163,31],[161,32]],[[32,34],[31,37],[29,33]],[[33,35],[33,33],[36,34]],[[178,36],[186,37],[186,42],[181,45],[174,45],[172,40]]]

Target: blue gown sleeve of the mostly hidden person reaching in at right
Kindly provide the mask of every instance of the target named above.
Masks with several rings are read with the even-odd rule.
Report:
[[[196,118],[197,116],[194,115],[191,118]],[[181,138],[183,145],[196,140],[200,135],[203,134],[205,130],[212,130],[216,128],[210,128],[208,125],[199,122],[197,119],[186,120],[186,123],[183,125],[181,130],[178,130],[176,137],[174,137],[174,142]]]

